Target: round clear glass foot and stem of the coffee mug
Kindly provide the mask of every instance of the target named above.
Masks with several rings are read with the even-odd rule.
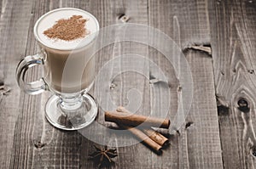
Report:
[[[70,100],[70,99],[69,99]],[[53,95],[45,106],[45,117],[54,127],[62,130],[79,130],[92,123],[97,115],[97,106],[94,99],[83,94],[73,99],[73,103],[66,102],[59,96]]]

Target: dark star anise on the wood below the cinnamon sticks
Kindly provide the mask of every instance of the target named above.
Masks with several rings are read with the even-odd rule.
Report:
[[[90,159],[95,160],[98,164],[98,167],[102,166],[110,166],[113,164],[113,158],[118,156],[116,149],[108,149],[107,145],[104,146],[103,149],[93,145],[96,149],[95,152],[90,154]]]

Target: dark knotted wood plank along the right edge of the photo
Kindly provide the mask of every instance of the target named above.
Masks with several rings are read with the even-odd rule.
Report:
[[[224,167],[254,168],[256,3],[212,1],[209,11]]]

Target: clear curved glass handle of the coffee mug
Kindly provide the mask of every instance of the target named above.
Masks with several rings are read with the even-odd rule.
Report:
[[[35,82],[24,81],[26,70],[32,68],[35,65],[44,65],[42,54],[26,56],[24,59],[20,60],[20,63],[16,69],[16,81],[18,82],[19,87],[24,92],[32,95],[43,93],[44,91],[49,90],[47,84],[44,82],[43,77]]]

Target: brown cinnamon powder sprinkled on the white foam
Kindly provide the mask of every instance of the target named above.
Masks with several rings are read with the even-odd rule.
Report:
[[[85,22],[81,15],[73,15],[67,20],[57,20],[48,30],[44,31],[44,35],[51,39],[62,39],[65,41],[72,41],[89,34],[85,29]]]

